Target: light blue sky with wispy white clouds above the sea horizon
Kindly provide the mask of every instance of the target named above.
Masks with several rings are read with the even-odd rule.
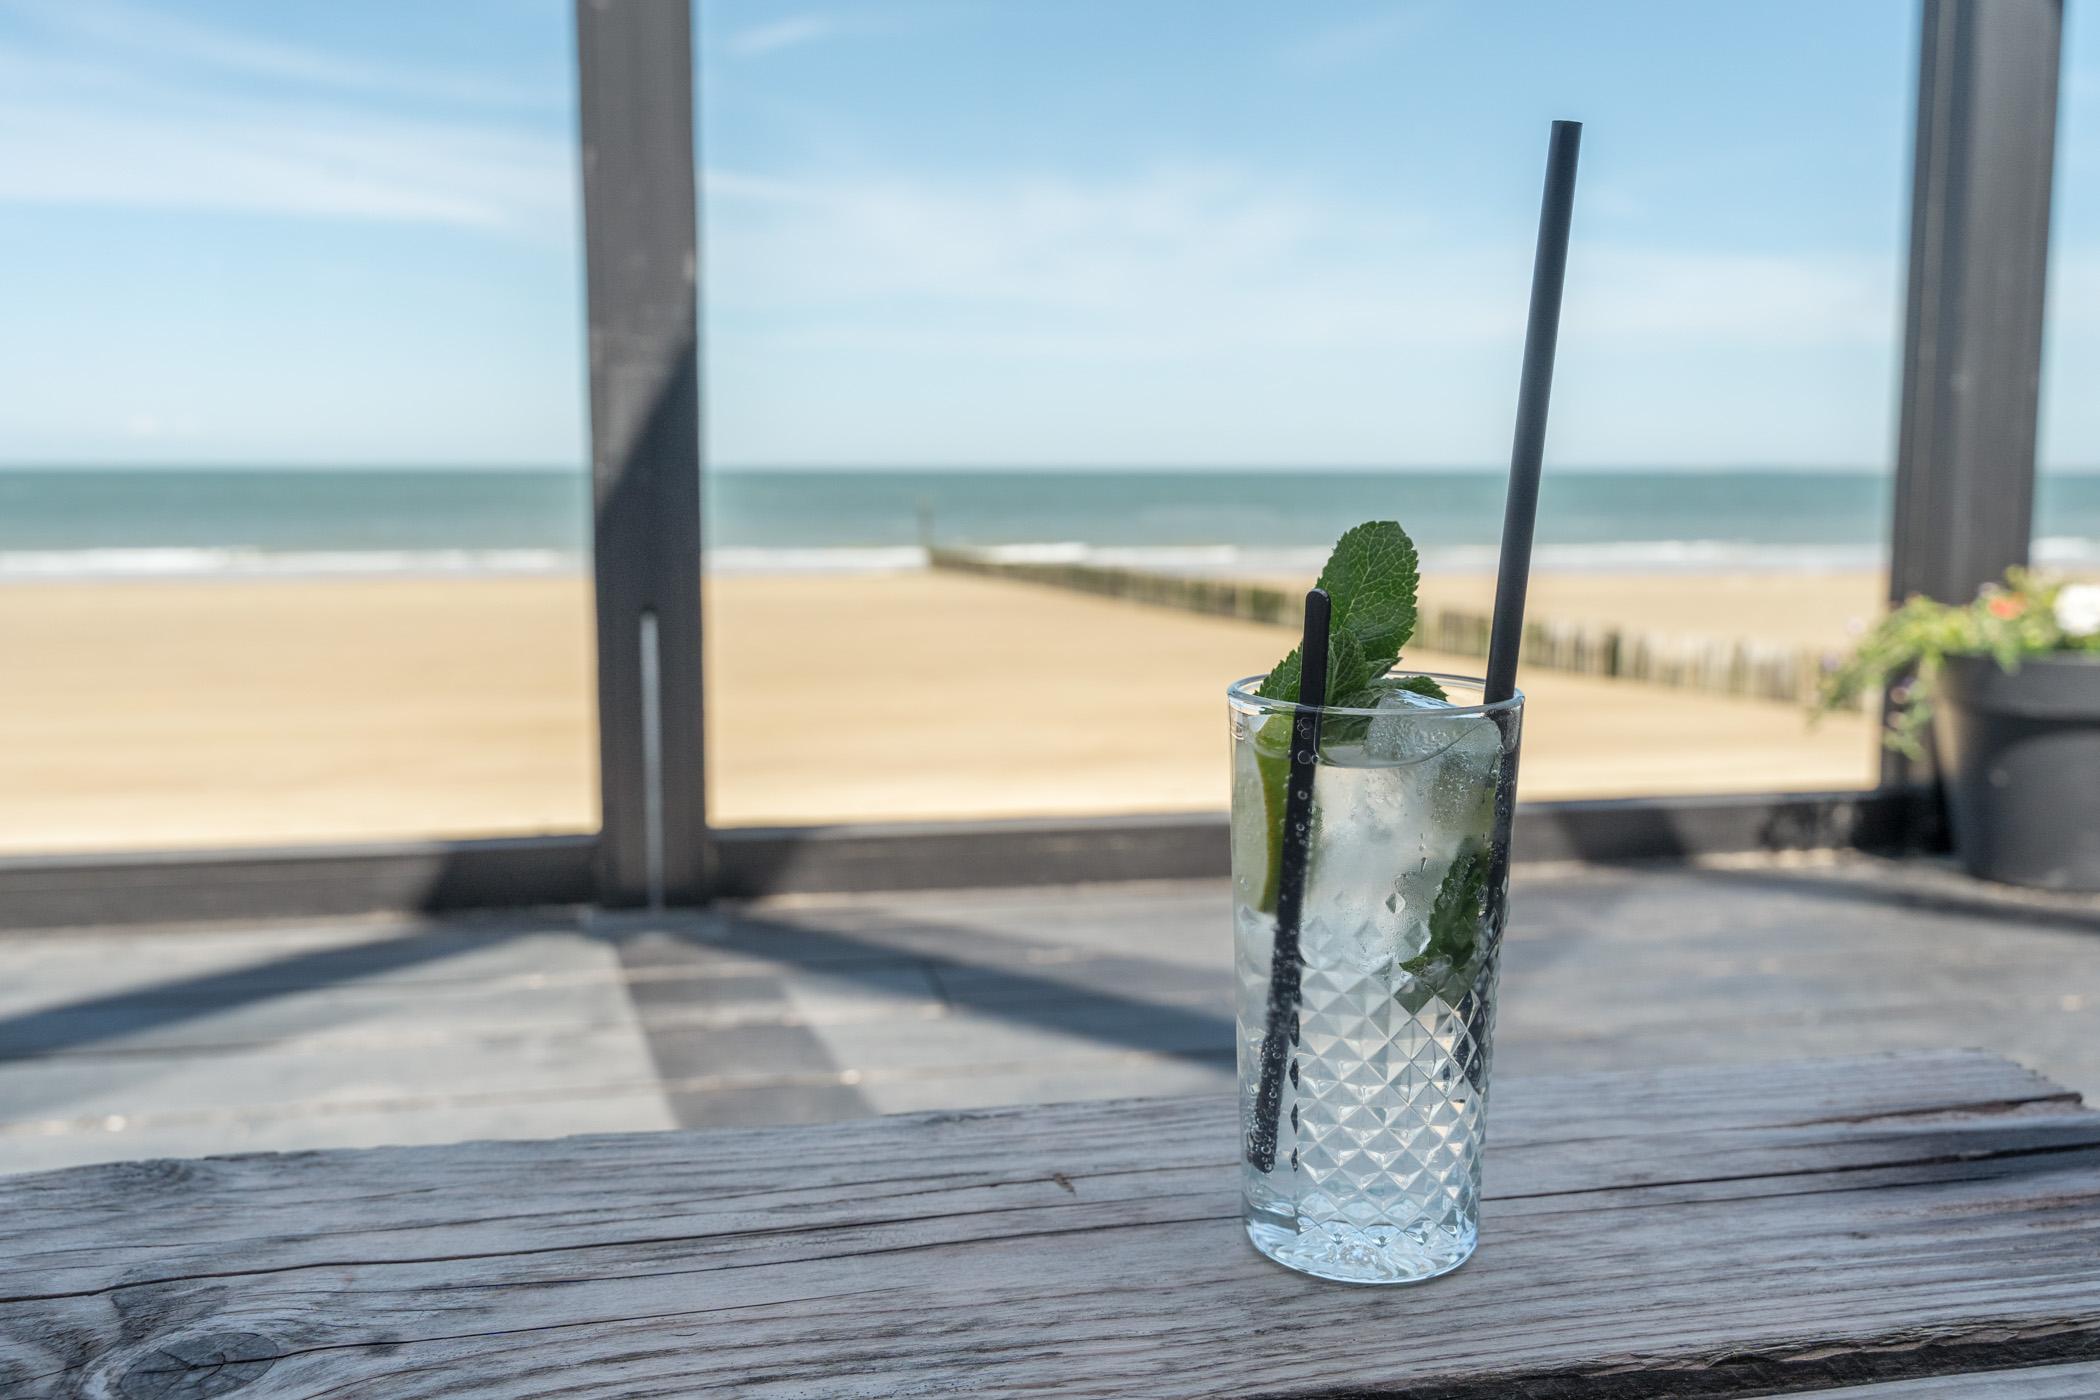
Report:
[[[2071,6],[2043,460],[2100,464]],[[1886,466],[1915,0],[701,0],[727,466]],[[0,0],[0,464],[580,470],[567,0]]]

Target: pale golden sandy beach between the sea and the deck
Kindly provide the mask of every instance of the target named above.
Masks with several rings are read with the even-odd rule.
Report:
[[[1487,581],[1430,579],[1430,604]],[[1544,575],[1533,615],[1844,640],[1871,575]],[[722,825],[1205,810],[1226,680],[1289,638],[941,573],[718,577]],[[578,831],[596,823],[580,577],[0,588],[0,850]],[[1462,657],[1409,655],[1476,672]],[[1535,672],[1525,796],[1833,789],[1863,718]]]

